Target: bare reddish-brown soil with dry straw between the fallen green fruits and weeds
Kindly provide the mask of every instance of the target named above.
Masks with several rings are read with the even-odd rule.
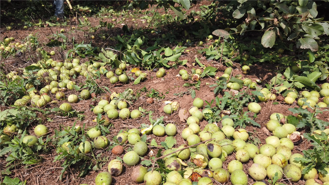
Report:
[[[201,4],[207,4],[209,3],[209,1],[202,1]],[[200,5],[196,5],[194,6],[191,10],[197,10],[200,7]],[[170,11],[169,11],[170,12]],[[170,12],[172,13],[172,12]],[[89,17],[89,21],[91,23],[92,27],[96,27],[97,25],[99,25],[99,18],[93,18],[93,17]],[[112,20],[110,18],[103,18],[103,21],[108,21],[108,22],[112,22]],[[132,20],[128,19],[127,21],[127,25],[132,24]],[[146,24],[142,24],[140,20],[136,20],[136,22],[138,22],[138,27],[144,27],[146,26]],[[76,20],[71,18],[70,19],[70,25],[75,26],[75,24],[77,24]],[[93,33],[93,35],[97,35],[99,33],[106,33],[107,35],[120,35],[120,34],[124,34],[122,29],[121,29],[121,25],[116,25],[115,28],[113,29],[107,29],[107,28],[99,28],[97,30],[96,33]],[[68,27],[61,27],[61,26],[56,26],[56,27],[43,27],[43,28],[37,28],[34,29],[34,27],[29,28],[28,30],[23,30],[20,28],[16,28],[13,29],[11,31],[6,31],[5,27],[1,27],[1,39],[5,38],[5,37],[15,37],[16,41],[19,40],[24,40],[24,38],[30,34],[36,34],[38,33],[39,36],[39,43],[45,44],[48,43],[50,41],[50,38],[52,38],[52,35],[56,32],[59,32],[60,29],[65,29],[67,30],[66,33],[68,33],[68,29],[70,29],[70,26]],[[163,33],[166,32],[166,29],[168,28],[164,28],[162,30]],[[88,33],[88,27],[83,27],[81,30],[77,29],[75,32],[70,33],[70,35],[68,35],[70,38],[75,37],[75,41],[76,43],[81,43],[82,41],[84,41],[85,43],[91,43],[93,46],[99,46],[99,47],[111,47],[114,46],[116,43],[115,41],[111,41],[109,39],[107,40],[102,40],[98,37],[96,37],[95,40],[91,40],[90,39],[90,35],[91,33]],[[148,36],[152,37],[156,37],[158,35],[156,34],[149,34]],[[204,47],[207,47],[207,45],[212,44],[214,40],[210,40],[207,41],[207,43],[205,43]],[[164,43],[170,45],[169,43]],[[68,48],[70,47],[70,45],[68,45]],[[172,46],[173,47],[173,46]],[[65,55],[66,51],[59,51],[60,48],[49,48],[49,47],[44,47],[44,50],[47,50],[48,52],[50,52],[51,50],[55,50],[56,51],[56,56],[53,56],[52,58],[54,60],[57,61],[63,61],[63,55]],[[181,93],[181,92],[186,92],[187,88],[183,87],[183,84],[186,81],[183,81],[179,76],[177,76],[179,74],[179,70],[180,69],[186,69],[189,73],[191,73],[191,69],[192,68],[199,68],[199,67],[194,67],[193,63],[195,62],[195,57],[199,58],[200,62],[206,66],[214,66],[216,68],[218,68],[218,72],[216,73],[216,76],[221,76],[224,73],[225,70],[225,66],[223,66],[221,63],[214,61],[214,60],[206,60],[205,57],[202,56],[202,54],[199,54],[197,52],[198,49],[202,49],[202,47],[199,46],[190,46],[187,48],[187,50],[190,50],[190,52],[185,52],[182,57],[180,58],[181,60],[183,59],[187,59],[188,63],[185,66],[180,66],[177,69],[171,68],[171,69],[166,69],[166,74],[164,76],[164,78],[156,78],[156,72],[155,71],[147,71],[145,69],[143,69],[143,72],[147,73],[147,80],[144,82],[141,82],[137,85],[133,85],[133,82],[130,82],[129,84],[124,84],[122,86],[114,86],[109,82],[109,79],[107,79],[105,76],[103,76],[100,80],[96,81],[100,86],[106,86],[110,89],[110,91],[112,92],[123,92],[126,88],[132,88],[134,90],[134,92],[138,92],[140,89],[142,89],[143,87],[146,87],[147,90],[150,89],[156,89],[157,91],[163,93],[165,95],[164,99],[154,99],[154,103],[153,104],[148,104],[146,103],[145,98],[139,98],[138,101],[134,102],[133,105],[131,105],[129,107],[130,110],[133,109],[137,109],[139,106],[141,106],[143,109],[145,110],[150,110],[153,111],[154,113],[153,115],[153,119],[164,116],[164,122],[165,124],[167,123],[174,123],[177,126],[177,134],[174,136],[174,138],[177,140],[177,144],[174,147],[178,147],[182,144],[185,144],[186,141],[184,141],[181,137],[181,132],[182,130],[187,127],[187,124],[184,122],[181,122],[179,117],[178,117],[178,111],[173,113],[172,115],[167,115],[164,114],[164,112],[161,112],[159,109],[161,108],[161,105],[164,101],[177,101],[180,104],[180,109],[189,109],[192,106],[192,102],[193,99],[191,98],[190,94],[183,94],[182,96],[177,96],[177,93]],[[28,57],[31,57],[31,60],[26,60]],[[31,65],[32,63],[37,62],[39,59],[38,56],[29,53],[26,55],[23,55],[22,57],[12,57],[12,58],[7,58],[7,59],[2,59],[1,62],[5,63],[7,72],[9,71],[20,71],[18,70],[18,68],[24,68],[28,65]],[[85,62],[87,61],[88,58],[85,59],[81,59],[81,62]],[[233,72],[233,76],[236,74],[241,74],[242,75],[242,79],[244,78],[250,78],[251,80],[255,80],[255,79],[259,79],[260,77],[263,78],[264,82],[263,84],[259,84],[264,85],[266,83],[266,81],[269,81],[273,76],[276,75],[276,73],[273,70],[269,70],[269,69],[275,69],[277,67],[277,64],[270,64],[270,63],[257,63],[255,65],[251,66],[251,71],[248,75],[244,75],[241,73],[240,71],[240,64],[239,63],[235,63],[236,67],[234,67],[234,72]],[[135,66],[128,66],[127,71],[130,71],[132,68],[134,68]],[[85,78],[79,76],[76,80],[77,84],[79,84],[79,86],[81,84],[84,83]],[[201,80],[201,85],[200,85],[200,90],[196,90],[196,97],[199,97],[205,101],[211,102],[211,100],[215,99],[215,94],[213,92],[214,87],[209,87],[209,85],[206,85],[206,83],[209,84],[214,84],[214,82],[216,81],[215,77],[214,78],[204,78]],[[243,89],[241,89],[243,90]],[[67,91],[65,94],[76,94],[79,96],[80,92],[77,92],[75,90],[71,90],[71,91]],[[103,94],[97,94],[98,97],[100,97]],[[50,95],[52,97],[52,99],[55,99],[55,95]],[[141,97],[146,97],[146,93],[141,93]],[[218,95],[219,98],[221,98],[221,94]],[[147,98],[147,97],[146,97]],[[42,115],[40,113],[38,113],[38,116],[40,118],[42,118],[44,121],[42,122],[43,125],[47,126],[49,128],[49,131],[51,132],[50,135],[54,134],[54,130],[60,129],[60,125],[63,127],[66,126],[72,126],[74,124],[74,122],[76,122],[77,125],[83,125],[86,124],[86,127],[93,127],[95,126],[95,122],[92,122],[92,120],[96,117],[93,112],[91,111],[91,107],[89,106],[91,104],[91,102],[93,101],[93,99],[88,99],[88,100],[81,100],[80,102],[76,103],[76,104],[72,104],[73,109],[77,110],[77,111],[84,111],[84,115],[85,115],[85,119],[83,121],[79,121],[76,118],[65,118],[65,117],[61,117],[55,114],[50,114],[50,115]],[[64,101],[63,101],[64,102]],[[59,101],[59,104],[61,104],[62,102]],[[266,132],[264,130],[266,130],[266,126],[265,124],[268,122],[269,120],[269,115],[275,112],[278,113],[282,113],[284,115],[290,115],[292,114],[290,111],[288,111],[288,108],[292,108],[295,107],[296,105],[287,105],[284,102],[279,102],[279,104],[272,104],[272,102],[267,102],[267,103],[260,103],[261,107],[262,107],[262,111],[257,115],[257,118],[255,119],[255,121],[257,123],[259,123],[261,125],[261,128],[258,127],[253,127],[253,126],[247,126],[246,130],[249,132],[250,136],[253,137],[257,137],[260,139],[260,141],[262,143],[265,143],[265,139],[266,137],[270,136],[271,133],[270,132]],[[49,105],[50,108],[52,107],[57,107],[59,105]],[[4,110],[8,107],[1,107],[1,110]],[[244,108],[245,110],[247,110],[247,107]],[[52,121],[47,121],[47,119],[50,118]],[[325,121],[329,121],[329,111],[324,112],[324,114],[319,115],[319,118]],[[202,122],[200,122],[200,128],[201,130],[205,127],[205,125],[208,122],[203,120]],[[117,135],[117,133],[120,130],[127,130],[130,128],[138,128],[140,127],[141,124],[149,124],[149,119],[148,119],[148,115],[144,115],[141,118],[138,119],[129,119],[129,120],[120,120],[117,119],[115,121],[113,121],[113,127],[110,128],[111,133],[107,134],[106,137],[109,139],[109,141],[113,141],[113,137]],[[220,127],[221,124],[217,123],[218,126]],[[30,131],[30,133],[33,133],[34,127],[36,126],[36,124],[32,124],[28,130]],[[265,129],[264,129],[265,128]],[[305,132],[305,130],[298,130],[300,132]],[[147,143],[150,143],[152,139],[155,139],[157,141],[157,143],[160,143],[161,141],[164,141],[165,137],[156,137],[153,134],[148,135],[147,137]],[[123,145],[125,149],[129,148],[130,145],[129,144],[124,144]],[[95,182],[95,176],[97,175],[97,173],[102,172],[102,171],[107,171],[107,165],[104,165],[102,167],[101,170],[99,171],[93,171],[90,170],[90,172],[84,176],[84,177],[77,177],[77,171],[74,169],[75,165],[72,166],[72,168],[65,172],[63,175],[63,180],[59,179],[59,176],[61,174],[61,170],[63,169],[61,167],[63,161],[57,161],[57,162],[53,162],[54,161],[54,157],[57,155],[56,153],[56,148],[57,146],[53,146],[51,144],[51,142],[49,143],[49,147],[52,148],[52,150],[49,153],[43,153],[41,154],[42,156],[42,162],[36,165],[31,165],[29,168],[19,168],[19,169],[15,169],[12,172],[12,176],[13,177],[19,177],[21,180],[26,180],[27,184],[36,184],[36,185],[60,185],[60,184],[81,184],[81,183],[87,183],[89,185],[94,185]],[[310,147],[310,143],[305,141],[302,142],[301,144],[297,145],[294,147],[294,150],[292,151],[292,153],[301,153],[302,150],[308,149]],[[156,153],[158,151],[158,148],[156,147],[149,147],[149,151],[153,150],[154,153]],[[108,156],[109,160],[115,159],[117,156],[115,156],[111,150],[98,150],[98,153],[102,153],[101,156]],[[125,152],[120,155],[119,157],[123,157],[123,155],[125,154]],[[88,154],[87,154],[88,155]],[[143,160],[147,160],[149,159],[149,155],[146,155],[144,157]],[[234,159],[234,155],[230,155],[228,160],[226,162],[223,162],[223,168],[226,169],[227,164],[229,161],[231,161],[232,159]],[[0,163],[1,163],[1,170],[4,169],[4,165],[6,164],[5,162],[5,157],[2,157],[0,159]],[[248,163],[243,164],[244,165],[244,171],[246,173],[248,167],[250,167],[252,164],[252,161],[250,160]],[[79,166],[80,164],[76,164],[76,166]],[[113,177],[113,184],[119,184],[119,185],[124,185],[124,184],[137,184],[137,183],[133,183],[131,181],[131,173],[134,167],[128,167],[124,165],[124,170],[122,172],[122,174],[120,176],[117,177]],[[249,178],[249,182],[248,184],[251,185],[253,184],[254,180],[250,177]],[[282,183],[285,184],[289,184],[288,181],[282,181]],[[216,183],[214,183],[216,184]],[[218,184],[218,183],[217,183]],[[230,185],[231,183],[229,182],[228,185]],[[303,180],[298,181],[297,183],[290,183],[293,185],[297,185],[297,184],[304,184]]]

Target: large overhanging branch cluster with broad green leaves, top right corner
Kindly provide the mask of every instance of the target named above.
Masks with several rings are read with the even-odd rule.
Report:
[[[315,1],[231,1],[232,16],[244,19],[230,30],[243,34],[255,30],[256,25],[265,31],[262,37],[264,47],[271,48],[279,37],[281,40],[297,40],[297,48],[317,51],[321,35],[328,35],[329,24],[318,15]],[[229,29],[228,29],[229,30]]]

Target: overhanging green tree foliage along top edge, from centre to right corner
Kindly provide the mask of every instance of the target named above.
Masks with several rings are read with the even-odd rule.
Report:
[[[184,15],[182,8],[188,10],[189,0],[175,1],[149,1],[150,4],[158,4],[166,10],[172,9],[182,19]],[[328,1],[324,1],[328,5]],[[140,8],[147,8],[148,3],[140,1]],[[175,3],[179,6],[175,7]],[[210,22],[215,22],[219,17],[219,12],[223,12],[226,19],[232,19],[238,25],[232,27],[230,24],[225,30],[230,34],[244,35],[246,31],[262,31],[262,45],[265,48],[272,48],[277,39],[296,41],[297,48],[318,50],[317,41],[323,35],[329,34],[329,23],[324,18],[318,18],[317,5],[312,0],[299,1],[252,1],[238,0],[229,1],[223,6],[220,1],[214,1],[204,11],[204,17]]]

